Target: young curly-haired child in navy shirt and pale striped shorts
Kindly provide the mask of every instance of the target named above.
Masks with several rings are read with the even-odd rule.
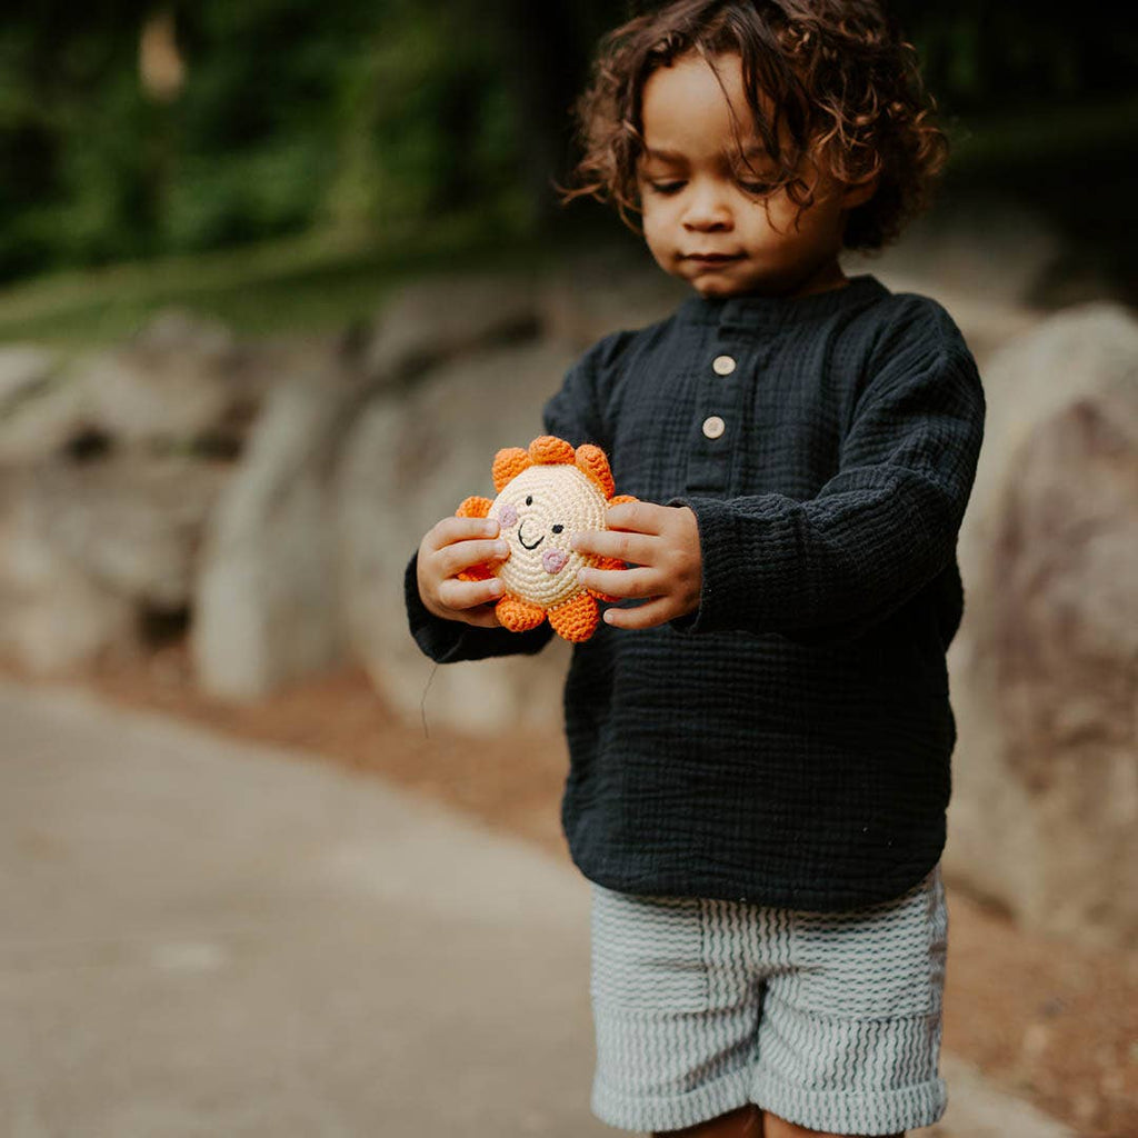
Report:
[[[563,823],[593,883],[593,1110],[629,1130],[897,1135],[934,1122],[955,725],[945,653],[983,432],[935,302],[847,279],[945,139],[875,0],[678,0],[604,42],[580,192],[638,213],[694,292],[601,340],[545,406],[600,445],[628,563],[574,650]],[[495,523],[407,570],[438,661],[536,652],[495,627]]]

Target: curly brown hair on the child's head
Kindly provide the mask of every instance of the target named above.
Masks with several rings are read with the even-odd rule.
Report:
[[[621,218],[640,211],[636,170],[643,150],[644,84],[690,53],[715,66],[742,59],[748,105],[775,167],[799,209],[813,203],[799,176],[813,160],[839,182],[879,179],[850,212],[844,245],[876,249],[931,200],[948,157],[916,51],[875,0],[675,0],[637,16],[602,41],[592,81],[577,102],[584,157],[568,201],[592,196]]]

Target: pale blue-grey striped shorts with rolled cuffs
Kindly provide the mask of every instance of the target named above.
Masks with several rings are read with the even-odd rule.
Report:
[[[893,1135],[945,1112],[940,867],[846,913],[593,885],[593,1113],[678,1130],[756,1103],[811,1130]]]

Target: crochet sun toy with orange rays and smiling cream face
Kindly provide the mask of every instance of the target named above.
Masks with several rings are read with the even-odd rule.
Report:
[[[599,446],[576,450],[564,439],[543,435],[529,444],[505,447],[494,456],[494,488],[498,496],[468,497],[455,511],[459,518],[494,518],[509,545],[504,561],[472,566],[459,574],[463,580],[500,577],[505,587],[494,608],[511,632],[536,628],[549,618],[553,630],[574,643],[596,630],[596,599],[615,597],[585,588],[577,570],[624,569],[615,558],[577,553],[569,545],[584,529],[604,529],[605,513],[629,494],[615,494],[609,460]]]

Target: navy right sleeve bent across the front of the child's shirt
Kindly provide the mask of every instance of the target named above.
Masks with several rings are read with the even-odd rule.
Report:
[[[674,498],[695,512],[703,585],[673,626],[814,643],[884,619],[955,563],[983,417],[966,349],[900,353],[871,374],[840,469],[814,498]]]

